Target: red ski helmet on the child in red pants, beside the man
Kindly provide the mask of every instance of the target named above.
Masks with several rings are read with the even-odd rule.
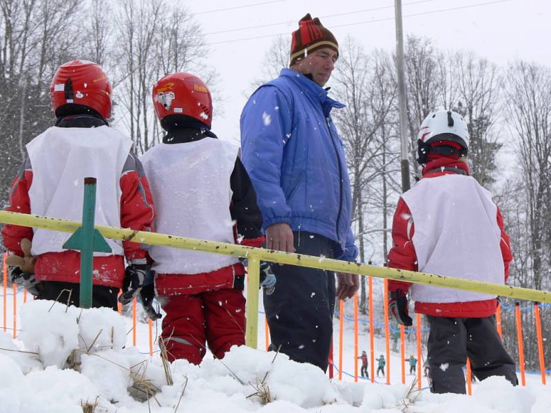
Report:
[[[184,115],[211,127],[211,92],[197,76],[185,72],[167,74],[153,86],[152,97],[159,120],[169,115]]]

